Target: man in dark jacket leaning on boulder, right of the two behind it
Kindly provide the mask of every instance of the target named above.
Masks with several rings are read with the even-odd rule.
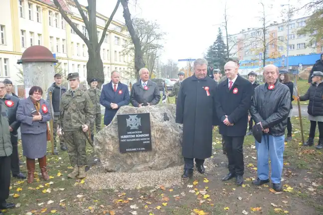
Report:
[[[149,80],[149,70],[139,70],[140,81],[132,86],[130,102],[134,107],[157,105],[161,100],[161,93],[158,85]]]

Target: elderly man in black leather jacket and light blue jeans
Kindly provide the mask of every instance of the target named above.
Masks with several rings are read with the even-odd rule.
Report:
[[[282,191],[283,154],[285,144],[285,129],[291,106],[289,88],[277,81],[278,68],[267,65],[264,68],[266,83],[255,89],[250,113],[263,131],[261,142],[256,140],[257,174],[253,182],[260,186],[269,182],[269,162],[271,160],[271,181],[275,191]],[[256,126],[257,126],[256,125]]]

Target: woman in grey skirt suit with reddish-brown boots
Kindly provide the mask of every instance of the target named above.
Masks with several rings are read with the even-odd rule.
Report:
[[[17,121],[21,122],[21,142],[23,156],[26,156],[28,183],[32,183],[35,171],[35,159],[38,159],[44,180],[49,176],[46,170],[47,121],[50,120],[49,104],[41,98],[43,91],[33,86],[29,97],[21,100],[17,109]]]

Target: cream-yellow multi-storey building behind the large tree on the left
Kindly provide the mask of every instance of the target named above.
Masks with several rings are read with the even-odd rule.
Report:
[[[87,31],[76,7],[70,10],[71,20],[85,36]],[[84,10],[85,7],[84,7]],[[86,12],[86,11],[85,11]],[[97,13],[98,37],[101,38],[108,17]],[[101,46],[105,82],[110,72],[118,70],[126,79],[132,57],[123,56],[122,45],[129,38],[127,27],[113,20]],[[9,78],[19,85],[21,65],[16,64],[26,48],[43,45],[56,56],[66,74],[78,72],[86,81],[87,46],[62,18],[50,0],[1,0],[0,6],[0,80]],[[128,72],[126,72],[128,71]],[[45,71],[44,71],[45,72]]]

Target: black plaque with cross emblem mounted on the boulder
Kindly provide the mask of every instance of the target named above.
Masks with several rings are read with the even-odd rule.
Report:
[[[152,150],[150,113],[120,114],[117,118],[121,153]]]

